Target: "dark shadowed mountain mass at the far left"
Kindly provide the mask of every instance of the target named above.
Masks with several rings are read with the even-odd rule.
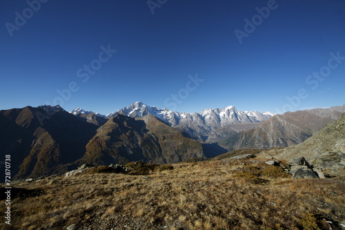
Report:
[[[96,130],[59,106],[0,111],[0,151],[11,156],[14,179],[61,173],[83,156]]]

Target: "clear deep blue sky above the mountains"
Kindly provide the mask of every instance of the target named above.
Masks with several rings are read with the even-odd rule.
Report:
[[[0,21],[0,109],[345,102],[342,0],[4,0]]]

